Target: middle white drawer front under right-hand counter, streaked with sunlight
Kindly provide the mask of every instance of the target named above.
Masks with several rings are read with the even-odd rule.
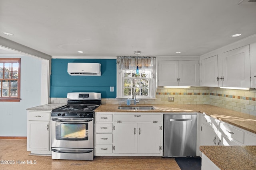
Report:
[[[222,135],[232,137],[236,141],[244,143],[244,132],[240,131],[239,129],[236,129],[234,127],[231,127],[230,125],[227,125],[226,123],[221,122],[219,131],[220,133],[222,133]]]

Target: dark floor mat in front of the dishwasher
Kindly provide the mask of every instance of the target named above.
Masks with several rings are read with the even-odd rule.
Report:
[[[181,170],[201,170],[201,158],[196,157],[180,157],[175,158]]]

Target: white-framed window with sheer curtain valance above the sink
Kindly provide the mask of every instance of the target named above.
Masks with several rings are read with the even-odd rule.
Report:
[[[118,57],[117,63],[117,98],[155,98],[155,57]]]

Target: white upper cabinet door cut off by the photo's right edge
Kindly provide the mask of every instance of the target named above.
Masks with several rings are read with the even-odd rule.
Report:
[[[256,88],[256,43],[250,44],[251,87]]]

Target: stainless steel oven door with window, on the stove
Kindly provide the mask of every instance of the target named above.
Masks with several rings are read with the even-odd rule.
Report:
[[[52,148],[94,148],[93,118],[52,117]]]

